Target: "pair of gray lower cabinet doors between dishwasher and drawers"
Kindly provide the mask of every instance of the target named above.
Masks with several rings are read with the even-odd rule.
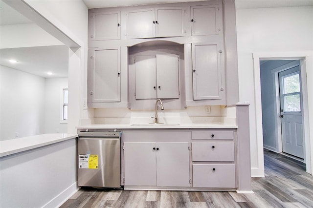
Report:
[[[125,186],[190,187],[188,142],[125,142]]]

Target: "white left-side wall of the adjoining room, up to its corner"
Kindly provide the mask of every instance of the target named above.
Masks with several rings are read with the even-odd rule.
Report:
[[[45,78],[0,65],[1,138],[44,133]]]

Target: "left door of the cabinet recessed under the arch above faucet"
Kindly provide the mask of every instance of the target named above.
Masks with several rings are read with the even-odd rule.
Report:
[[[136,99],[156,99],[156,55],[135,56]]]

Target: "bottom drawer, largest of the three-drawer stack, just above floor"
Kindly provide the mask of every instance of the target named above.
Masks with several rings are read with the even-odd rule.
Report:
[[[192,165],[193,187],[235,188],[236,172],[233,164]]]

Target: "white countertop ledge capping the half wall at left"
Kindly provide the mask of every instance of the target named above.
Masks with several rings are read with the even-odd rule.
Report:
[[[77,134],[40,134],[0,142],[0,157],[78,137]]]

